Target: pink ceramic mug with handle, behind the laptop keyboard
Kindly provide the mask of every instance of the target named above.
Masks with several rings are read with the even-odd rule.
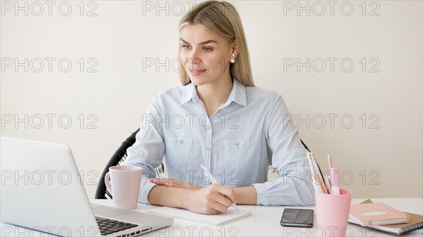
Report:
[[[142,168],[130,165],[109,167],[104,176],[104,183],[111,193],[114,207],[125,210],[138,206]]]

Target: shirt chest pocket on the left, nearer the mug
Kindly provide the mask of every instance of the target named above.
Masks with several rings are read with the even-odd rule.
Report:
[[[197,140],[170,136],[165,139],[166,169],[175,171],[197,169]]]

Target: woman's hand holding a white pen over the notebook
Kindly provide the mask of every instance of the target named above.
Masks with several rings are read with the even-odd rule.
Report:
[[[212,184],[196,190],[188,190],[184,207],[201,214],[226,212],[235,203],[235,190],[220,184]]]

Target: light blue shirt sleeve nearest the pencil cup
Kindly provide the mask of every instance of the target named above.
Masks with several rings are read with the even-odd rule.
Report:
[[[266,141],[271,149],[272,165],[279,177],[274,181],[253,184],[257,205],[314,205],[314,188],[307,162],[307,150],[298,136],[283,98],[276,94],[266,115]]]

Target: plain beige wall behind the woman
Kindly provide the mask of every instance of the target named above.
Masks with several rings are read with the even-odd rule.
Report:
[[[92,198],[149,99],[179,84],[178,20],[194,1],[54,1],[50,13],[25,2],[27,16],[1,1],[1,136],[68,143]],[[307,3],[309,15],[297,1],[233,2],[257,86],[283,96],[322,168],[329,151],[355,198],[422,197],[422,1]],[[28,72],[15,68],[25,58]],[[56,58],[51,72],[45,58]],[[307,58],[310,71],[298,70]]]

